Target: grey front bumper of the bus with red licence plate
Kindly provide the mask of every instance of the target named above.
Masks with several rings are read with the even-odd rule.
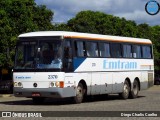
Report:
[[[50,97],[65,98],[76,95],[74,87],[65,88],[14,88],[15,97]]]

